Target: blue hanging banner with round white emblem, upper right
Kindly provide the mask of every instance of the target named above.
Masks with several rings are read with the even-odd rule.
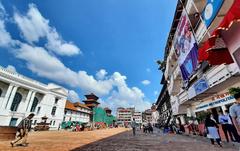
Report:
[[[218,11],[222,7],[224,0],[208,0],[202,18],[205,21],[207,28],[211,25],[214,18],[217,16]]]

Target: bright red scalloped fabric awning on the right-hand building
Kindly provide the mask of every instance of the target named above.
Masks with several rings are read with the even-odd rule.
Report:
[[[198,61],[208,61],[209,64],[230,64],[233,59],[225,46],[221,33],[227,31],[234,22],[240,21],[240,0],[235,0],[219,26],[212,32],[211,37],[202,44],[198,51]]]

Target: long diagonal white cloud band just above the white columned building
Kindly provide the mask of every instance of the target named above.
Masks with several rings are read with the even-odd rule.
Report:
[[[80,87],[86,93],[94,92],[97,95],[106,95],[112,89],[111,80],[96,80],[85,71],[72,71],[42,47],[22,43],[14,54],[17,58],[25,60],[28,69],[41,77],[71,87]]]

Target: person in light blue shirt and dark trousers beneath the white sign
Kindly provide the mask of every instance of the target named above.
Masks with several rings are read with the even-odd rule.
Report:
[[[230,117],[227,115],[224,115],[222,111],[219,111],[218,121],[221,124],[222,130],[224,132],[227,142],[229,142],[228,135],[230,136],[230,139],[233,142],[234,141],[233,135],[229,127],[229,123],[231,122]]]

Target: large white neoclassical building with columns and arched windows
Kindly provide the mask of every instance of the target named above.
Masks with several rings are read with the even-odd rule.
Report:
[[[64,117],[68,91],[55,84],[43,84],[0,66],[0,126],[16,126],[34,113],[33,127],[46,116],[50,130]]]

